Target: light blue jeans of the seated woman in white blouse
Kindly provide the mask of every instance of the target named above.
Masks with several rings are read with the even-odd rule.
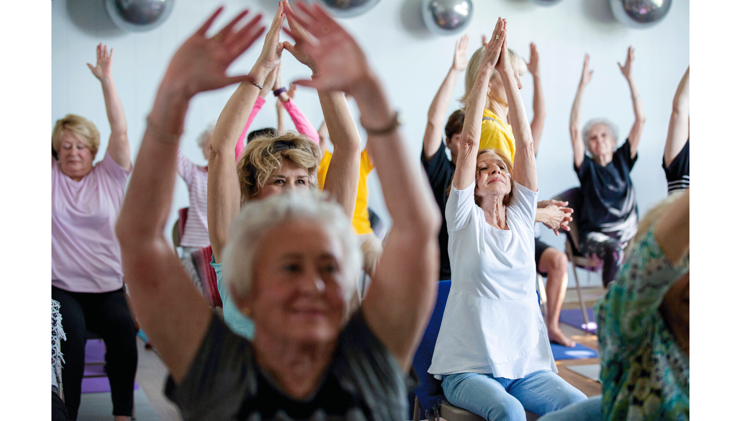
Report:
[[[442,389],[448,402],[488,421],[525,421],[525,411],[544,415],[587,396],[549,370],[524,378],[495,378],[464,372],[446,375]]]

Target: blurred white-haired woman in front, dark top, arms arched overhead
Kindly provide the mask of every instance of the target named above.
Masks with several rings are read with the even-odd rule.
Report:
[[[187,421],[404,420],[405,373],[434,304],[439,215],[383,87],[321,7],[298,4],[317,39],[302,45],[315,77],[299,83],[354,96],[394,227],[360,310],[346,309],[360,271],[350,217],[312,194],[252,200],[234,221],[223,258],[235,301],[255,320],[252,342],[210,312],[163,234],[189,99],[254,80],[225,71],[260,36],[260,17],[235,30],[240,13],[208,38],[219,11],[166,70],[118,222],[133,307],[171,372],[166,393]]]

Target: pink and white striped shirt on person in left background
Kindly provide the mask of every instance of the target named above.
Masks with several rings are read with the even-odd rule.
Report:
[[[180,245],[182,247],[204,248],[210,245],[208,239],[208,169],[198,167],[179,151],[177,172],[187,182],[189,208],[187,222]]]

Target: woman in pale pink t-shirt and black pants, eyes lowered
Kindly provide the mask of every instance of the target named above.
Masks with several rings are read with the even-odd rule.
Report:
[[[60,302],[67,419],[78,418],[86,331],[106,343],[106,372],[115,421],[133,415],[138,365],[136,325],[130,316],[115,223],[132,170],[124,108],[112,78],[112,50],[97,46],[96,67],[112,134],[94,165],[99,132],[90,120],[67,114],[52,131],[52,299]]]

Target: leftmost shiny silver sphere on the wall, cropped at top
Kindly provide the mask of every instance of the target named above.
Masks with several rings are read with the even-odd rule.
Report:
[[[127,32],[151,31],[161,25],[175,0],[105,0],[106,11],[118,28]]]

